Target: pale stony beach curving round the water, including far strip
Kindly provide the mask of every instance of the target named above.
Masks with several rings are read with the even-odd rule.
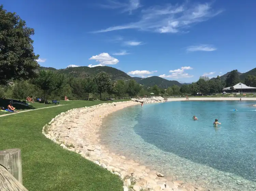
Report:
[[[186,98],[168,98],[168,101],[186,101]],[[240,100],[240,98],[189,98],[192,100]],[[242,98],[256,100],[256,98]],[[91,107],[71,109],[62,112],[43,127],[42,133],[63,149],[79,153],[82,157],[116,174],[124,181],[124,191],[140,191],[150,188],[152,191],[204,191],[196,185],[173,180],[145,167],[138,160],[129,160],[125,156],[112,153],[100,143],[100,126],[108,114],[125,107],[140,104],[138,102],[104,103]],[[133,188],[132,190],[129,188]]]

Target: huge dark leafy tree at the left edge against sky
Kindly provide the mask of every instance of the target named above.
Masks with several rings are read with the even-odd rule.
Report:
[[[0,84],[8,80],[27,80],[35,75],[39,67],[34,54],[34,29],[16,13],[7,12],[0,5]]]

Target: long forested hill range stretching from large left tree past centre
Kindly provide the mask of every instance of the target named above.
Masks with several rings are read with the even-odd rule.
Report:
[[[158,76],[152,76],[152,77],[147,77],[147,78],[141,78],[141,77],[131,77],[129,76],[127,73],[118,70],[116,68],[112,68],[109,66],[97,66],[97,67],[87,67],[87,66],[80,66],[80,67],[70,67],[70,68],[66,68],[66,69],[55,69],[52,67],[42,67],[40,66],[39,70],[52,70],[56,73],[61,73],[61,74],[67,74],[68,76],[73,76],[73,77],[81,77],[81,78],[85,78],[85,77],[89,77],[89,76],[95,76],[96,74],[104,71],[106,73],[108,73],[111,77],[112,80],[135,80],[137,81],[139,84],[141,85],[145,85],[147,87],[150,87],[151,85],[157,85],[158,87],[161,88],[166,88],[166,87],[170,87],[172,85],[178,85],[181,86],[182,84],[177,82],[177,81],[170,81],[170,80],[166,80],[163,79],[161,77]]]

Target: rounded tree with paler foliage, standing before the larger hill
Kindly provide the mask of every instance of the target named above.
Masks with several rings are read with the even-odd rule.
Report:
[[[111,79],[109,74],[106,72],[100,72],[94,77],[94,82],[97,85],[97,92],[100,94],[101,100],[101,93],[106,92],[108,88],[111,86]]]

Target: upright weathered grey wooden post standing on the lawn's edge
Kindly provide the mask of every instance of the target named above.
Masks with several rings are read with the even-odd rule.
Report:
[[[0,165],[2,165],[20,184],[22,184],[22,161],[20,149],[0,151]]]

